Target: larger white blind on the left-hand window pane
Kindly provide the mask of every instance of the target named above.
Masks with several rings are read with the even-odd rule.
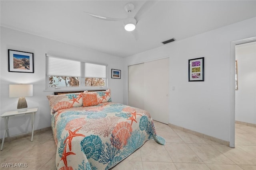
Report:
[[[81,63],[79,61],[62,59],[57,57],[48,57],[48,76],[81,76]]]

